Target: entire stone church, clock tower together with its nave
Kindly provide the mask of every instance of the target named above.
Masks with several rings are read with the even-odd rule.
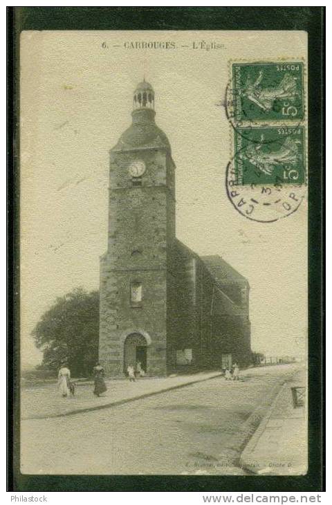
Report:
[[[218,255],[176,239],[175,163],[154,89],[133,93],[132,124],[110,151],[107,252],[100,258],[99,357],[108,376],[250,363],[249,284]],[[197,230],[199,233],[199,230]]]

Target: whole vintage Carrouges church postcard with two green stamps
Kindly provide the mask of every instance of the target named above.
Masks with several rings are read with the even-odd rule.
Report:
[[[307,53],[21,33],[21,474],[306,474]]]

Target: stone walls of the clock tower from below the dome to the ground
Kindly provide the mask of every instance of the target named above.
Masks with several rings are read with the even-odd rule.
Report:
[[[141,185],[128,167],[144,160]],[[172,174],[167,176],[167,170]],[[166,374],[167,255],[175,232],[174,164],[165,149],[111,152],[108,251],[100,261],[100,360],[107,374],[122,374],[129,333],[147,334],[147,374]],[[132,304],[131,284],[142,284]]]

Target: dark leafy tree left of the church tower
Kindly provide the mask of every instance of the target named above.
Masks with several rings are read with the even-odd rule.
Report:
[[[89,376],[98,360],[98,333],[99,293],[76,288],[57,298],[32,335],[43,367],[58,369],[66,361],[72,376]]]

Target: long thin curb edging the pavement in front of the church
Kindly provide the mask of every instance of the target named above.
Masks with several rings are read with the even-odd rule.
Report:
[[[147,398],[148,396],[155,396],[156,394],[162,394],[167,391],[172,391],[174,389],[181,389],[182,387],[187,387],[191,386],[192,384],[197,384],[197,383],[203,383],[206,380],[211,380],[216,377],[221,377],[222,374],[218,372],[218,374],[215,374],[210,377],[205,377],[205,378],[200,378],[197,380],[192,380],[189,383],[183,383],[183,384],[178,384],[174,386],[169,386],[169,387],[164,387],[163,389],[158,389],[158,391],[151,391],[149,393],[144,393],[140,394],[138,396],[131,396],[130,398],[123,398],[122,400],[116,400],[116,401],[111,401],[109,403],[104,403],[103,405],[94,405],[93,407],[85,407],[82,409],[75,409],[71,410],[70,412],[64,412],[63,414],[50,414],[49,416],[31,416],[31,417],[22,417],[22,421],[32,421],[34,419],[55,419],[59,417],[67,417],[67,416],[74,416],[75,414],[82,414],[83,412],[92,412],[93,410],[102,410],[102,409],[107,409],[110,407],[117,407],[118,405],[124,405],[124,403],[130,403],[132,401],[136,400],[142,400],[142,398]]]

